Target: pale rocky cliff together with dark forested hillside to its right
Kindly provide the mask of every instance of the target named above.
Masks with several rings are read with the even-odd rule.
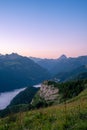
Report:
[[[87,88],[87,80],[67,81],[64,83],[45,81],[33,98],[31,105],[34,108],[41,108],[60,104],[77,96],[85,88]]]

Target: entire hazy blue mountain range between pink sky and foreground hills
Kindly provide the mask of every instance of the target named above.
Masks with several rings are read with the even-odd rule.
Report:
[[[32,86],[47,79],[65,81],[75,76],[87,77],[86,66],[87,56],[41,59],[17,53],[0,54],[0,92]]]

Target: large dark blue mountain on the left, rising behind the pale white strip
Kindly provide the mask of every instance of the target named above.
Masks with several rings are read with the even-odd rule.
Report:
[[[0,56],[0,92],[32,86],[50,78],[49,72],[27,57]]]

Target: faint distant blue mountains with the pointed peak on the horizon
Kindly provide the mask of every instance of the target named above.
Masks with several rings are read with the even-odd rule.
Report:
[[[66,55],[62,55],[57,59],[34,59],[36,63],[38,63],[40,66],[46,68],[51,72],[52,74],[58,74],[61,72],[69,72],[73,69],[76,69],[77,67],[80,67],[82,65],[87,64],[87,56],[79,56],[76,58],[67,58]]]

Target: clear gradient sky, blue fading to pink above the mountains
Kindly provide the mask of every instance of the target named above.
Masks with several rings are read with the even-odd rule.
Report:
[[[87,55],[87,0],[0,0],[0,53]]]

